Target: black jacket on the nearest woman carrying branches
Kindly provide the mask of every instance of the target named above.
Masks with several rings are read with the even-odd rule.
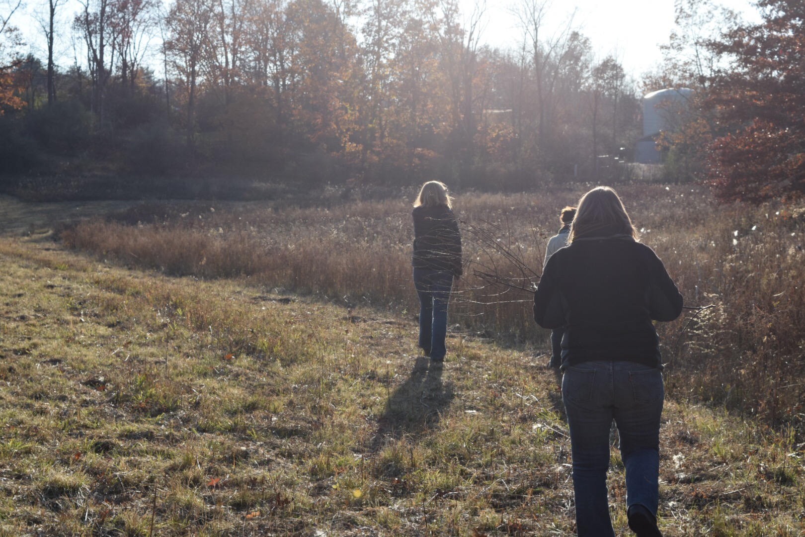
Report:
[[[629,237],[580,238],[548,260],[534,295],[543,328],[566,326],[564,365],[636,361],[662,367],[652,320],[674,320],[682,295],[663,262]]]

